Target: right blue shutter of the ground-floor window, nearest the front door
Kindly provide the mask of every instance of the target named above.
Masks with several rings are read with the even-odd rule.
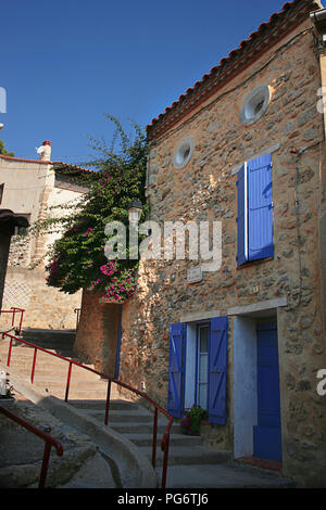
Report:
[[[211,320],[209,350],[209,421],[226,423],[227,317]]]

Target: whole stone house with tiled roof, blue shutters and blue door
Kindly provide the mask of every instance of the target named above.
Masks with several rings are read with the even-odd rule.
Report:
[[[205,408],[214,448],[308,486],[326,480],[325,18],[286,3],[148,126],[149,219],[215,221],[221,260],[141,259],[123,307],[84,294],[76,340],[174,417]]]

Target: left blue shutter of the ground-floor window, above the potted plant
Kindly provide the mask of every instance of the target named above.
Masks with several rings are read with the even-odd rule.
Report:
[[[175,418],[181,416],[184,386],[184,324],[171,324],[167,410]]]

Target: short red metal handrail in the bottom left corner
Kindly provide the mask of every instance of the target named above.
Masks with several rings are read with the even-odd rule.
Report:
[[[37,435],[38,437],[40,437],[41,439],[46,442],[42,466],[41,466],[41,471],[40,471],[39,481],[38,481],[38,488],[43,488],[46,485],[46,477],[48,474],[51,446],[54,446],[54,448],[57,449],[57,454],[59,455],[59,457],[61,457],[63,455],[62,444],[59,441],[54,439],[51,435],[46,434],[45,432],[40,431],[36,426],[32,425],[32,423],[28,423],[27,421],[23,420],[23,418],[17,417],[16,415],[9,411],[2,406],[0,406],[0,412],[2,412],[2,415],[5,415],[8,418],[15,421],[20,425],[24,426],[25,429],[27,429],[27,431],[32,432],[33,434]]]

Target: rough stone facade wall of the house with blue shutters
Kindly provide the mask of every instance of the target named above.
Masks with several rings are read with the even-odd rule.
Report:
[[[222,267],[189,284],[190,262],[140,264],[137,293],[123,309],[121,378],[136,387],[145,385],[166,406],[171,323],[189,313],[229,315],[229,308],[239,304],[284,298],[286,306],[275,310],[284,469],[316,484],[325,482],[326,468],[326,398],[316,393],[316,372],[326,367],[318,251],[323,116],[316,110],[319,74],[310,28],[308,22],[296,34],[289,33],[278,47],[152,141],[151,219],[221,220]],[[271,104],[255,124],[243,126],[239,117],[243,100],[263,84],[271,87]],[[193,139],[193,155],[185,168],[175,169],[173,155],[186,137]],[[274,258],[238,269],[236,169],[265,150],[273,151]],[[231,320],[229,324],[226,436],[233,448]]]

